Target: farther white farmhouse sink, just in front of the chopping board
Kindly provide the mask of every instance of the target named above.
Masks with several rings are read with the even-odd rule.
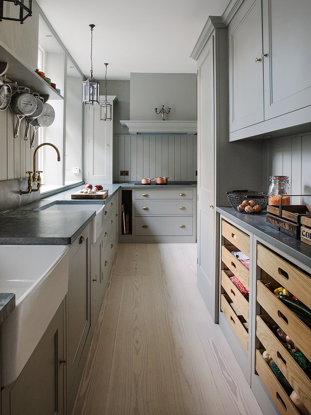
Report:
[[[96,210],[96,216],[91,222],[92,244],[95,244],[104,227],[104,207],[99,203],[56,203],[47,207],[39,207],[35,210]]]

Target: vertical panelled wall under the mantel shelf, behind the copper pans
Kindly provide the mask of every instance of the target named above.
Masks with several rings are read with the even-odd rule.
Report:
[[[114,181],[197,180],[197,135],[114,135],[113,145]],[[120,170],[129,176],[120,176]]]

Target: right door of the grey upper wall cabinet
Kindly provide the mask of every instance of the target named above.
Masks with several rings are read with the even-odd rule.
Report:
[[[311,105],[311,2],[264,0],[262,12],[268,120]]]

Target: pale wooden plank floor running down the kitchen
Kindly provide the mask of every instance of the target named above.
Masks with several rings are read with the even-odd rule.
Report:
[[[262,415],[196,267],[196,244],[119,244],[73,415]]]

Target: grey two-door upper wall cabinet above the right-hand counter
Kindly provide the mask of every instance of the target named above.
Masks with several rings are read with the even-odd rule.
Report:
[[[229,24],[230,141],[311,128],[310,12],[309,0],[245,0]]]

